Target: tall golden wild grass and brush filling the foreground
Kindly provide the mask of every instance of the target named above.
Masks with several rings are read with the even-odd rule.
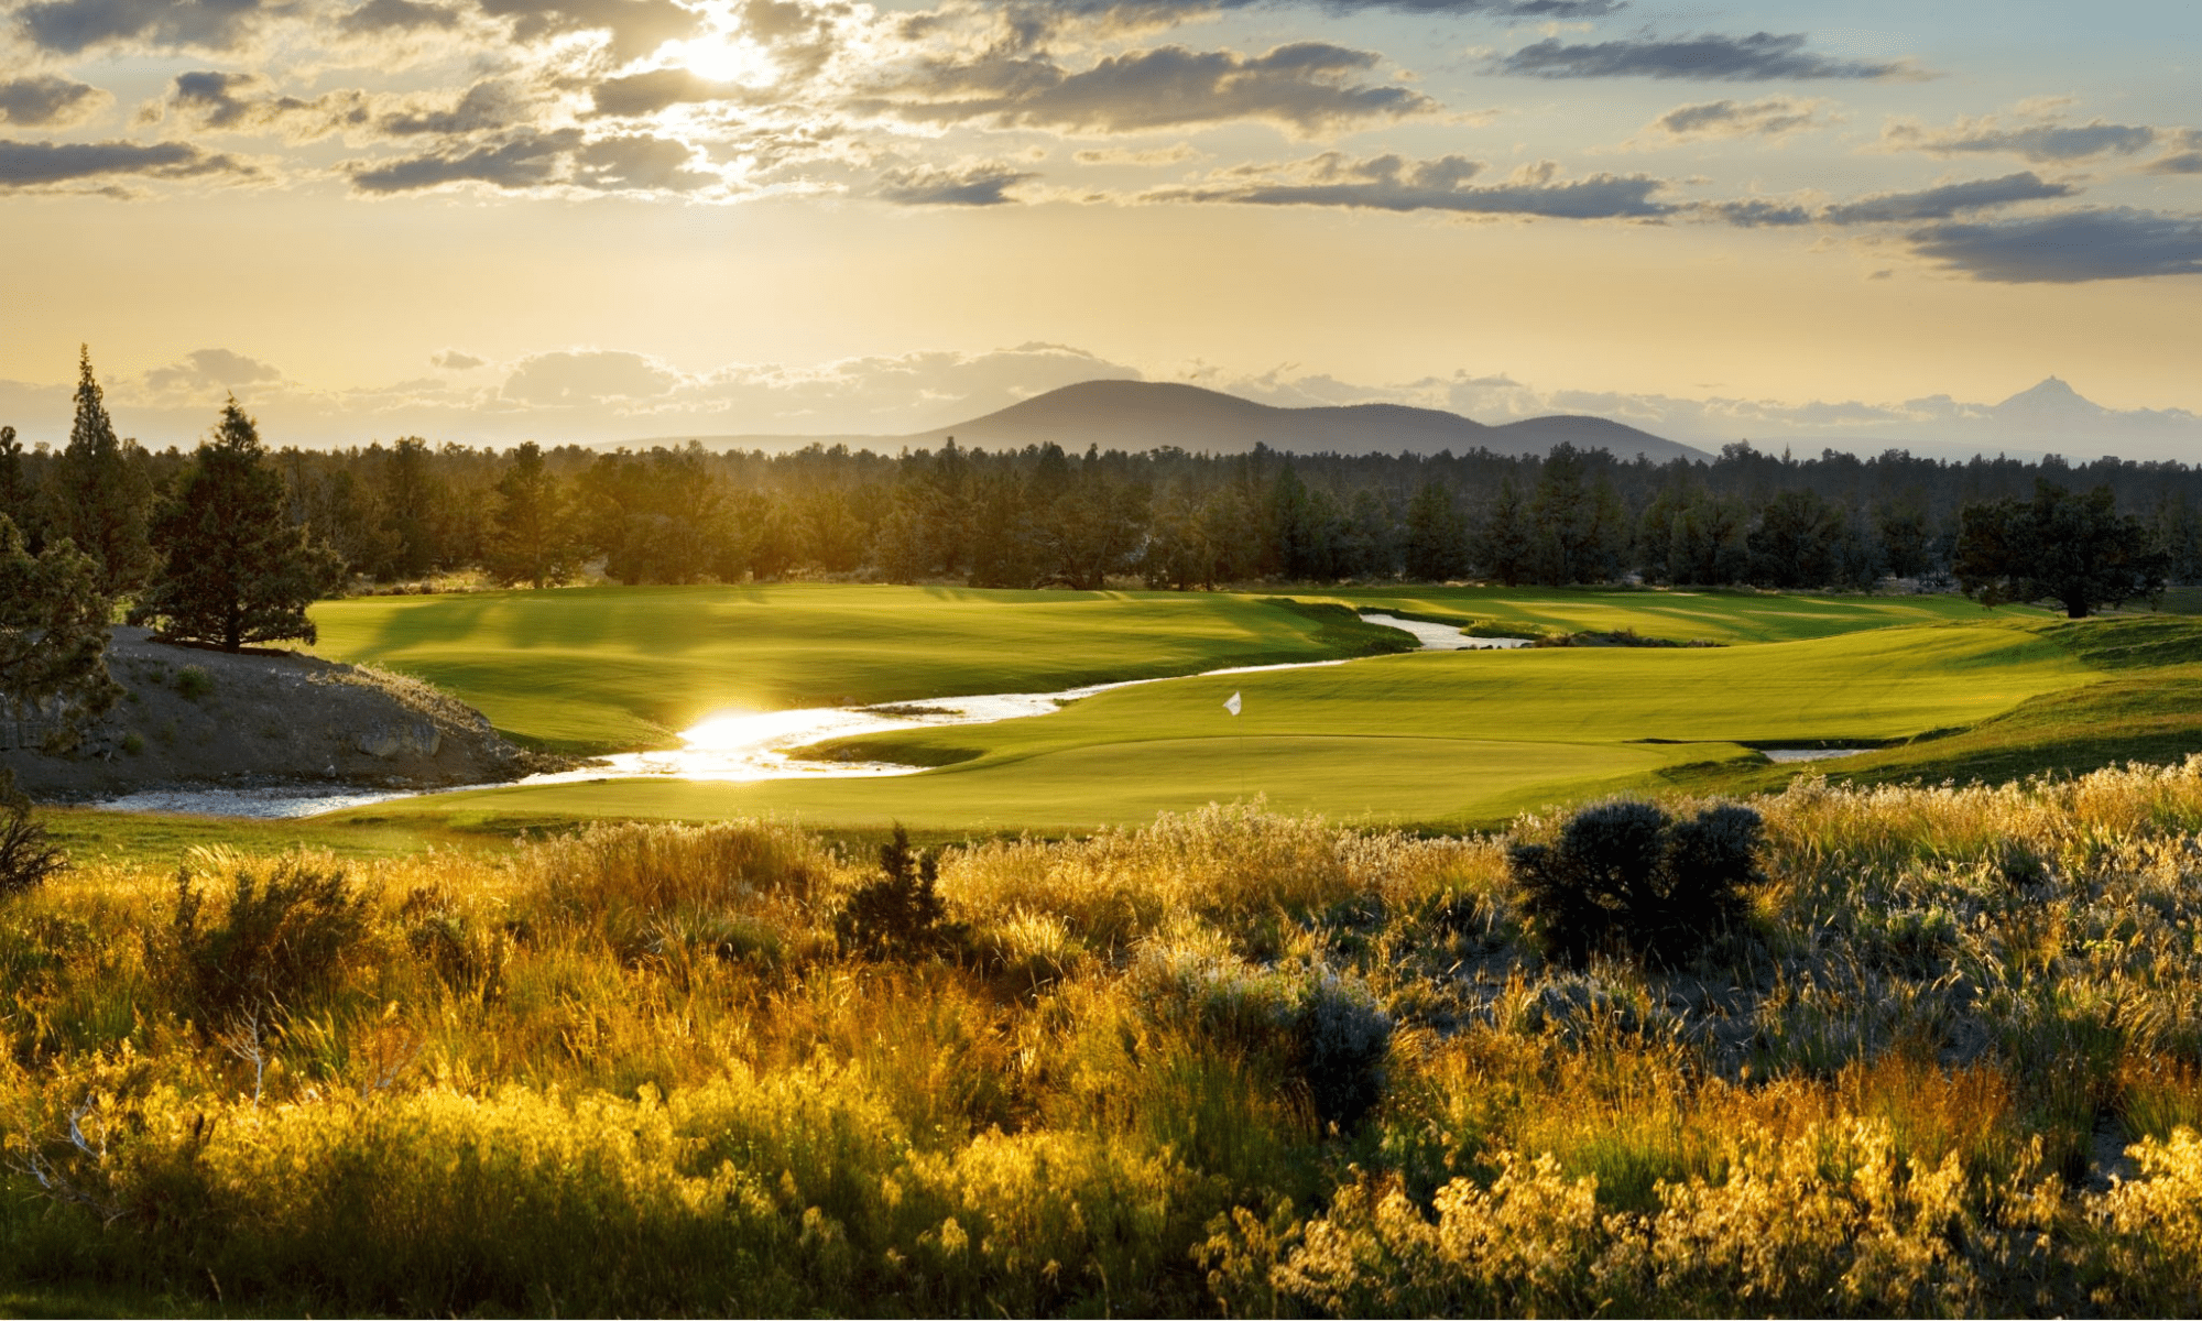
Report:
[[[0,909],[0,1277],[33,1312],[2202,1306],[2202,760],[1753,806],[1748,927],[1667,971],[1537,953],[1504,856],[1550,817],[980,841],[890,960],[835,945],[868,859],[784,821],[355,861],[341,947],[253,978],[200,958],[236,878],[337,859],[200,852],[189,927],[170,870],[92,863]]]

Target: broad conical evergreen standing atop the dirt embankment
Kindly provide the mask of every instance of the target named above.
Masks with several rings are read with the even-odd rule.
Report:
[[[277,638],[310,643],[306,605],[335,588],[344,561],[293,524],[284,504],[282,476],[231,399],[154,517],[163,566],[130,619],[225,652]]]

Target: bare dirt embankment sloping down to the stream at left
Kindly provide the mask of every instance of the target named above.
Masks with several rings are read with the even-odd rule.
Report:
[[[117,627],[123,698],[53,755],[35,727],[0,724],[0,766],[44,801],[150,788],[348,784],[432,788],[564,764],[502,740],[480,711],[423,683],[295,652],[229,656]],[[29,744],[29,746],[13,746]]]

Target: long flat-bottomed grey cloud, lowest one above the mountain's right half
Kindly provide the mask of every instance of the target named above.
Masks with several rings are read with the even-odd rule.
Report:
[[[1654,200],[1665,181],[1645,174],[1594,174],[1559,178],[1552,161],[1517,170],[1506,183],[1475,187],[1482,161],[1438,156],[1409,161],[1405,156],[1350,159],[1323,152],[1308,161],[1273,167],[1242,183],[1227,181],[1156,189],[1143,200],[1156,203],[1238,203],[1249,207],[1354,207],[1372,211],[1451,211],[1460,216],[1546,216],[1563,220],[1614,220],[1667,216],[1676,207]]]

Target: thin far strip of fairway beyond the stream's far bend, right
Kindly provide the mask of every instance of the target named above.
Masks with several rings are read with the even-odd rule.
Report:
[[[1797,597],[1770,592],[1590,590],[1590,588],[1361,588],[1326,592],[1361,610],[1405,610],[1427,619],[1495,623],[1537,632],[1634,627],[1654,638],[1795,643],[1845,632],[1986,619],[2046,619],[2032,608],[1984,612],[1964,597]]]

